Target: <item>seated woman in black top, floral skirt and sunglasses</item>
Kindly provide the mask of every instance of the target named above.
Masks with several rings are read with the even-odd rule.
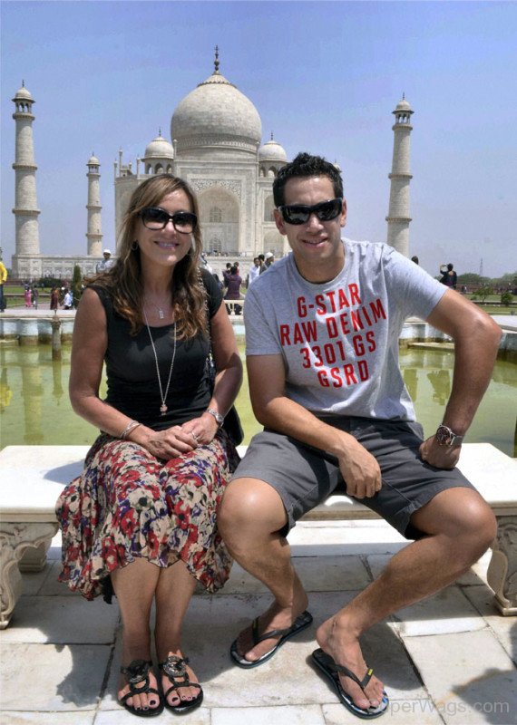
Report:
[[[73,330],[73,409],[102,433],[57,502],[60,579],[88,599],[109,600],[112,586],[123,623],[118,697],[141,717],[200,705],[181,623],[196,582],[216,591],[231,564],[215,517],[239,459],[221,423],[242,366],[222,295],[198,268],[197,218],[184,181],[144,181],[132,194],[119,258],[84,290]],[[163,696],[151,670],[153,600]]]

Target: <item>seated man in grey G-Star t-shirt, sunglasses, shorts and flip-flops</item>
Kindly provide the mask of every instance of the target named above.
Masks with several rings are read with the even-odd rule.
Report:
[[[501,330],[392,247],[342,240],[343,182],[326,160],[299,154],[278,171],[273,194],[292,253],[252,285],[245,302],[249,391],[265,430],[226,490],[219,530],[275,599],[230,653],[239,666],[255,667],[311,623],[285,536],[346,487],[415,539],[316,633],[313,661],[348,710],[372,717],[386,710],[387,698],[363,659],[360,635],[452,583],[495,536],[490,508],[454,466]],[[399,333],[414,314],[455,342],[444,425],[427,440],[397,364]]]

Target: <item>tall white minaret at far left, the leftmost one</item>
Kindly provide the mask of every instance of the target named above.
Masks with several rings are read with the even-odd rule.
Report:
[[[16,253],[13,257],[13,274],[17,275],[19,256],[34,256],[40,253],[40,237],[38,216],[38,202],[36,199],[36,170],[34,163],[33,142],[33,103],[34,98],[22,87],[16,92],[16,111],[13,118],[16,121],[16,150],[15,150],[15,208],[13,214],[16,219]]]

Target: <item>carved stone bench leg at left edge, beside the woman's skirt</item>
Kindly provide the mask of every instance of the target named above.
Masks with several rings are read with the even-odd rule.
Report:
[[[18,563],[27,546],[45,551],[57,531],[57,523],[0,523],[0,629],[11,620],[15,604],[22,594],[22,577]],[[46,548],[45,548],[46,546]]]

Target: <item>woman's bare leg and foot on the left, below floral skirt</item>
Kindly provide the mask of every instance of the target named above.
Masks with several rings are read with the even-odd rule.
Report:
[[[161,569],[147,559],[135,559],[131,564],[112,571],[112,585],[122,614],[123,647],[122,666],[133,660],[151,660],[151,631],[149,618],[151,604],[158,585]],[[150,686],[157,689],[154,675],[149,673]],[[137,685],[138,687],[138,685]],[[119,700],[130,691],[125,677],[121,676]],[[127,704],[135,710],[148,710],[160,703],[155,693],[129,698]]]

